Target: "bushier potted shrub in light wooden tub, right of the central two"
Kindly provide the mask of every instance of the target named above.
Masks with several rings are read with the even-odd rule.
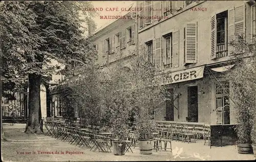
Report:
[[[165,87],[161,86],[158,69],[150,61],[138,57],[132,66],[133,86],[131,105],[135,109],[136,133],[141,154],[152,154],[154,121],[165,102]]]

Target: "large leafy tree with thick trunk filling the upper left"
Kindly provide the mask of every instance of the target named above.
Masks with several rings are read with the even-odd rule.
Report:
[[[29,113],[35,110],[29,115],[29,127],[38,123],[37,117],[32,118],[38,115],[38,85],[60,70],[53,60],[64,65],[72,60],[80,67],[93,65],[96,50],[82,28],[83,22],[93,25],[94,13],[84,10],[91,6],[90,2],[73,1],[1,3],[1,81],[12,85],[29,80],[30,93],[37,94],[29,100]]]

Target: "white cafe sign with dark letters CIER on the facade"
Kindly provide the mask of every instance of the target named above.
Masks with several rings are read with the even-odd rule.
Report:
[[[183,71],[167,73],[157,78],[160,79],[161,85],[185,82],[189,80],[195,80],[203,78],[204,66],[187,68]]]

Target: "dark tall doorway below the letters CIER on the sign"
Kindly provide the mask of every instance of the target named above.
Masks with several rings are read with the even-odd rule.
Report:
[[[187,87],[187,122],[198,122],[198,88]]]

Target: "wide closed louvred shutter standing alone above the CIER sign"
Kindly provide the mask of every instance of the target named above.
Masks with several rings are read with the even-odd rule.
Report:
[[[197,22],[185,27],[184,63],[197,63]]]

